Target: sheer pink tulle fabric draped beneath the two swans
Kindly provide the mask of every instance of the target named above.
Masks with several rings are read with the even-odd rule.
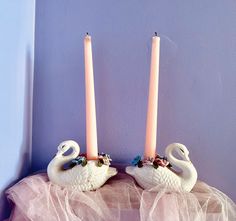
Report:
[[[14,204],[9,221],[235,221],[236,205],[224,193],[198,181],[190,193],[163,187],[142,190],[119,173],[91,192],[73,192],[29,176],[7,190]]]

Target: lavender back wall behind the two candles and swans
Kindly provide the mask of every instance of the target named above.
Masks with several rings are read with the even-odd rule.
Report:
[[[37,1],[33,170],[65,139],[85,151],[83,37],[93,38],[98,142],[143,152],[151,36],[161,36],[158,151],[190,149],[199,178],[236,200],[236,1]]]

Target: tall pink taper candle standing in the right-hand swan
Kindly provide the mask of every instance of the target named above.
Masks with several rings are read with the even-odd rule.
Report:
[[[154,158],[156,155],[157,134],[157,107],[158,107],[158,82],[159,82],[159,54],[160,38],[152,38],[152,55],[150,68],[149,96],[146,122],[146,143],[144,157]]]

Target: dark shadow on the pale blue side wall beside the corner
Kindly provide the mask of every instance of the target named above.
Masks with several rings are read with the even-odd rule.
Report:
[[[9,180],[8,185],[0,194],[0,220],[9,217],[12,205],[7,201],[5,191],[27,176],[31,166],[32,149],[32,96],[33,96],[33,63],[29,48],[25,54],[25,88],[24,88],[24,110],[22,125],[22,143],[19,148],[19,158],[16,173]],[[23,88],[22,88],[23,89]],[[14,133],[14,132],[13,132]],[[17,144],[16,144],[17,145]],[[17,147],[16,147],[17,148]],[[11,162],[9,162],[11,163]]]

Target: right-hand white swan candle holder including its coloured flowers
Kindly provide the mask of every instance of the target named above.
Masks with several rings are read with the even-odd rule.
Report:
[[[172,152],[175,151],[182,160],[177,160]],[[126,167],[126,173],[134,177],[143,189],[155,191],[157,187],[163,186],[169,192],[190,192],[197,182],[197,171],[188,157],[189,151],[179,143],[167,146],[167,157],[157,155],[155,159],[144,159],[140,156],[132,161],[134,166]],[[171,164],[180,168],[181,173],[171,169]]]

